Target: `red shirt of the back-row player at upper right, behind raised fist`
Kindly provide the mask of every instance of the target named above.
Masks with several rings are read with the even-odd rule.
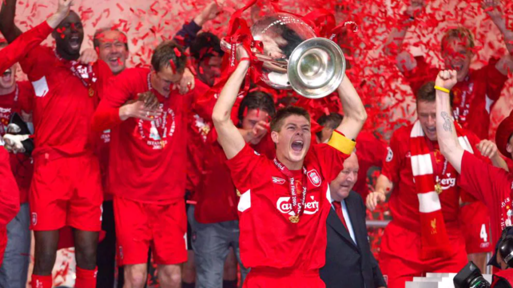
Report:
[[[428,81],[435,81],[439,69],[426,63],[424,57],[415,57],[417,67],[404,73],[409,80],[413,94]],[[499,59],[491,58],[488,64],[478,70],[470,70],[464,81],[452,88],[454,93],[453,114],[460,125],[475,133],[481,139],[488,139],[490,111],[501,95],[508,79],[495,66]]]

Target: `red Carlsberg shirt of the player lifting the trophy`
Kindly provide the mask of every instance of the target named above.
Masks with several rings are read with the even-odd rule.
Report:
[[[310,148],[304,161],[308,171],[305,211],[299,223],[289,220],[288,180],[272,160],[246,145],[227,161],[235,187],[242,193],[238,210],[245,266],[305,271],[324,266],[326,218],[331,208],[328,184],[347,157],[326,144]]]

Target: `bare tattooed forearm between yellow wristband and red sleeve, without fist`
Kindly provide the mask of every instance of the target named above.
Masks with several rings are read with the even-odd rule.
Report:
[[[440,152],[452,167],[461,173],[461,161],[463,159],[463,148],[458,142],[458,135],[454,127],[454,119],[451,116],[449,93],[436,92],[437,105],[437,137],[440,145]]]

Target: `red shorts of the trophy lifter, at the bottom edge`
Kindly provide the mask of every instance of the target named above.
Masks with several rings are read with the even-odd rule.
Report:
[[[251,268],[243,288],[326,288],[326,284],[319,276],[319,270],[299,271],[273,268]]]

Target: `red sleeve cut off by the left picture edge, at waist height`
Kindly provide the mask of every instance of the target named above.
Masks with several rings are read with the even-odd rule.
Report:
[[[7,225],[19,211],[19,191],[11,172],[9,153],[0,143],[0,226]]]

